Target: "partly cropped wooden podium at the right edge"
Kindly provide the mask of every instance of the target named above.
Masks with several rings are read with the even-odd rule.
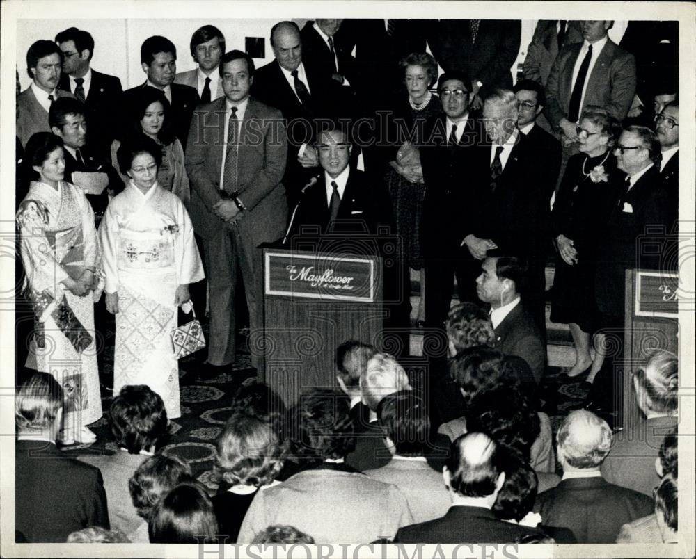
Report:
[[[626,270],[624,346],[624,432],[634,432],[640,410],[631,373],[645,366],[652,351],[679,355],[679,275],[656,270]]]

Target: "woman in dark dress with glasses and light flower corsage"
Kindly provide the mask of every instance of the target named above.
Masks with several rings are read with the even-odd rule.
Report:
[[[621,133],[619,122],[599,107],[587,107],[578,125],[579,154],[568,160],[551,214],[553,238],[560,255],[556,264],[551,321],[567,323],[576,349],[576,363],[567,375],[590,372],[592,382],[601,359],[592,362],[590,336],[596,330],[594,268],[599,236],[609,218],[612,192],[624,180],[612,145]],[[596,340],[599,342],[599,340]],[[601,343],[596,343],[601,346]]]

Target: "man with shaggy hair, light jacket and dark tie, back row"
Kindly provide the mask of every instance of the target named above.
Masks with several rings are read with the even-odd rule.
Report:
[[[201,103],[209,103],[225,95],[220,79],[220,59],[225,54],[225,35],[214,25],[204,25],[191,35],[191,56],[198,68],[179,72],[174,83],[196,88]]]

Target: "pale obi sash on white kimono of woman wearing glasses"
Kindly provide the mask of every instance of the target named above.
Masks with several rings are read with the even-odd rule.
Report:
[[[134,232],[121,229],[120,270],[174,268],[174,237],[166,231]]]

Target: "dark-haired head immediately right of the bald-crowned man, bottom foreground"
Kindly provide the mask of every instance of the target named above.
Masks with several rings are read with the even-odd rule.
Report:
[[[537,499],[537,474],[516,451],[505,449],[505,483],[498,493],[493,512],[500,520],[521,521],[534,507]]]

